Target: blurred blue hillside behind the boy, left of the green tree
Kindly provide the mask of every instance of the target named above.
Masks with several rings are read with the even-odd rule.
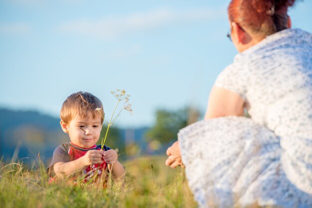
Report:
[[[40,159],[47,164],[54,149],[63,142],[69,142],[68,135],[62,131],[59,121],[59,118],[38,111],[0,108],[0,157],[3,156],[4,162],[26,158],[23,162],[31,165],[38,160],[37,155],[40,152]],[[119,145],[126,145],[124,149],[128,151],[127,145],[133,147],[135,144],[140,148],[139,153],[146,152],[144,135],[148,130],[149,127],[118,128],[121,137],[119,140],[122,141]],[[125,153],[123,155],[125,156]]]

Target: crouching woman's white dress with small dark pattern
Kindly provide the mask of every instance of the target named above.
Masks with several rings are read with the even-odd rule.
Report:
[[[238,54],[215,86],[250,118],[202,120],[178,140],[200,207],[312,208],[312,34],[286,29]]]

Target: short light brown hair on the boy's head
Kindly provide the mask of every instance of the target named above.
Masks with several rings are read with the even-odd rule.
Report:
[[[101,108],[101,110],[98,111],[96,110],[97,108]],[[105,114],[102,102],[88,92],[73,93],[64,101],[60,112],[60,118],[65,123],[69,123],[77,114],[84,118],[89,111],[92,113],[93,118],[100,113],[101,124],[103,123]]]

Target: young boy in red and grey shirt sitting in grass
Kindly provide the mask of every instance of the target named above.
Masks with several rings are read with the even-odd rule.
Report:
[[[50,176],[63,179],[82,171],[88,180],[93,174],[101,175],[108,167],[115,179],[124,178],[125,168],[117,160],[117,152],[106,145],[101,151],[101,145],[96,145],[104,121],[103,105],[97,97],[87,92],[70,95],[62,105],[60,117],[70,142],[54,150],[47,168]]]

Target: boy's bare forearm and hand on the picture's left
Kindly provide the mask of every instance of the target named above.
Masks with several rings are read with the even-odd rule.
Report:
[[[103,162],[103,152],[100,150],[89,150],[84,156],[70,162],[57,162],[53,166],[55,175],[63,179],[84,167],[92,164],[99,164]]]

